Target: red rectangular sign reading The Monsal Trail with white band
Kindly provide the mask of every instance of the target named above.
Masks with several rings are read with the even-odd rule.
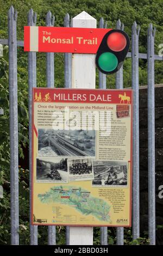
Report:
[[[104,35],[111,29],[24,27],[24,51],[96,54]]]

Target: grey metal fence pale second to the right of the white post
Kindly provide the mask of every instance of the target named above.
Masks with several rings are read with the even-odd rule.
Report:
[[[117,21],[117,29],[124,29],[124,24],[121,23],[120,20]],[[123,89],[123,65],[121,66],[121,69],[116,72],[116,89]],[[123,245],[123,228],[117,228],[117,245]]]

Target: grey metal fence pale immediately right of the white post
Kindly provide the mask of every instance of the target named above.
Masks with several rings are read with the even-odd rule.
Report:
[[[104,28],[104,19],[99,21],[99,28]],[[106,75],[99,71],[99,89],[106,89]],[[108,245],[108,227],[100,228],[100,242],[101,245]]]

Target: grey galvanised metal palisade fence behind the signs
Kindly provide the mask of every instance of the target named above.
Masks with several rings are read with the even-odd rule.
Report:
[[[54,26],[54,16],[49,11],[46,15],[46,26]],[[23,41],[16,37],[17,11],[11,6],[8,12],[8,39],[0,39],[0,44],[9,45],[9,100],[10,100],[10,173],[11,173],[11,244],[19,243],[18,220],[18,116],[17,116],[17,46],[23,47]],[[66,14],[64,26],[69,27],[70,16]],[[30,9],[28,26],[36,26],[36,13]],[[103,18],[99,27],[106,27]],[[118,29],[124,29],[120,20]],[[132,88],[134,90],[133,109],[133,239],[140,236],[139,209],[139,58],[148,61],[148,231],[150,244],[155,244],[155,127],[154,127],[154,60],[162,57],[154,55],[155,28],[152,24],[147,32],[147,54],[139,53],[140,27],[136,22],[132,26],[131,58]],[[72,54],[64,54],[65,87],[71,87]],[[54,87],[54,53],[46,53],[47,87]],[[28,86],[29,86],[29,172],[31,187],[32,170],[32,87],[36,87],[36,53],[28,53]],[[99,88],[106,88],[106,75],[99,72]],[[123,88],[123,66],[116,74],[115,88]],[[30,190],[31,191],[31,190]],[[30,193],[31,198],[31,193]],[[123,228],[117,228],[117,245],[123,245]],[[66,244],[69,243],[69,227],[66,227]],[[30,225],[30,244],[37,245],[37,226]],[[48,245],[56,244],[55,226],[48,227]],[[108,244],[108,228],[101,227],[101,245]]]

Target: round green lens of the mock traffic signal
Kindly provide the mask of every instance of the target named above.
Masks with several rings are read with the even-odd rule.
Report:
[[[99,56],[98,65],[102,70],[110,72],[116,69],[118,60],[114,53],[104,52]]]

